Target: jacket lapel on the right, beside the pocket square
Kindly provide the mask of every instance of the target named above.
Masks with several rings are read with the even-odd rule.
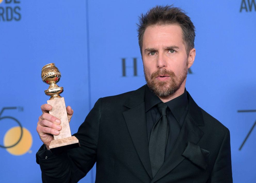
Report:
[[[188,96],[189,111],[181,128],[180,134],[170,155],[167,157],[166,161],[150,183],[159,180],[167,173],[172,171],[179,163],[181,163],[181,161],[185,159],[185,157],[182,156],[182,153],[188,145],[188,142],[197,144],[204,134],[203,131],[198,127],[204,126],[201,110],[189,94]]]

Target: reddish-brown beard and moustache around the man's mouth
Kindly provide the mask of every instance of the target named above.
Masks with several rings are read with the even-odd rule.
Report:
[[[187,64],[188,66],[188,64]],[[176,76],[175,73],[167,69],[158,69],[153,72],[149,77],[144,68],[144,75],[147,81],[148,87],[158,96],[158,97],[170,97],[175,94],[175,92],[180,88],[184,80],[187,78],[188,67],[185,67],[180,76]],[[156,79],[159,75],[168,75],[170,79],[168,81],[159,81]]]

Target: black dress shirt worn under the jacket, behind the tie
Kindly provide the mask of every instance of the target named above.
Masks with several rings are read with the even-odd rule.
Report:
[[[150,138],[151,130],[156,121],[161,117],[157,109],[157,104],[162,102],[153,91],[146,86],[145,90],[145,112],[146,112],[146,125],[147,125],[147,136],[148,142]],[[165,160],[170,154],[176,139],[180,133],[180,129],[185,120],[188,112],[188,97],[185,89],[184,93],[165,104],[167,107],[167,119],[169,124],[168,140],[165,148]]]

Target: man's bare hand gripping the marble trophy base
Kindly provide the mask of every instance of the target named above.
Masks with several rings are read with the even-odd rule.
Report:
[[[43,104],[41,106],[41,110],[43,114],[38,118],[36,131],[46,148],[50,150],[49,145],[53,140],[53,135],[59,135],[60,133],[59,131],[61,130],[61,126],[59,124],[61,121],[49,114],[49,111],[52,110],[51,105]],[[68,122],[70,122],[73,112],[74,111],[71,107],[67,106]]]

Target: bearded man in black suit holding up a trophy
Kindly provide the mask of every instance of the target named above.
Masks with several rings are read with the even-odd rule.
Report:
[[[77,182],[96,164],[96,182],[232,182],[229,130],[185,89],[195,60],[190,18],[172,6],[141,16],[139,45],[147,85],[100,98],[74,134],[80,148],[52,154],[59,119],[41,106],[37,163],[44,182]],[[73,110],[68,106],[69,120]]]

